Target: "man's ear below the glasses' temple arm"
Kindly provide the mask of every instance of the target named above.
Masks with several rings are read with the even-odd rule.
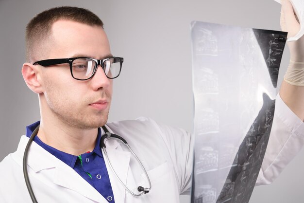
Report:
[[[38,68],[38,66],[31,63],[24,63],[21,71],[26,85],[35,93],[43,92],[41,72]]]

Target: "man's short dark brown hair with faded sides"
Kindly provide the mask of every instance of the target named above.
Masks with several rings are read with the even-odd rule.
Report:
[[[55,7],[37,14],[26,26],[26,61],[30,62],[34,48],[51,35],[51,26],[59,19],[73,20],[103,28],[101,19],[91,11],[71,6]]]

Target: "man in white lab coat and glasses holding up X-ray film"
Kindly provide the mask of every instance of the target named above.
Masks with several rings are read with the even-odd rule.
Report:
[[[298,23],[290,3],[283,5],[284,29],[295,34]],[[295,26],[296,25],[296,26]],[[40,122],[26,128],[17,151],[0,163],[0,202],[31,203],[22,158],[34,129],[27,161],[30,183],[40,203],[178,203],[191,185],[193,139],[182,129],[149,118],[106,123],[112,82],[123,58],[113,56],[101,20],[82,8],[57,7],[35,16],[26,30],[27,62],[22,75],[39,97]],[[280,95],[269,147],[258,183],[269,184],[304,142],[302,37],[289,44],[292,60]],[[299,68],[300,67],[300,68]],[[148,172],[152,188],[139,197],[137,187],[149,181],[132,153],[116,139],[106,139],[104,126],[129,143]],[[119,182],[113,170],[117,173]]]

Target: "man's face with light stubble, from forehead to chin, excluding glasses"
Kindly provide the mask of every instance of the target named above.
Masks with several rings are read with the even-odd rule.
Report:
[[[46,58],[85,56],[108,58],[110,46],[100,26],[90,26],[71,20],[58,20],[52,26],[50,51]],[[40,93],[42,116],[59,119],[68,126],[93,129],[103,126],[108,118],[112,97],[112,79],[101,66],[88,80],[76,80],[69,64],[41,67],[44,91]]]

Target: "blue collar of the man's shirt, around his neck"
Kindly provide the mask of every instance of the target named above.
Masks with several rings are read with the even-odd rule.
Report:
[[[26,127],[26,136],[27,137],[31,137],[34,129],[36,129],[38,127],[38,125],[40,125],[40,121],[37,121],[29,126]],[[95,144],[95,148],[93,149],[92,153],[96,153],[97,155],[99,155],[100,157],[102,156],[102,152],[101,152],[101,148],[100,148],[100,142],[101,142],[101,131],[102,133],[103,130],[101,128],[98,128],[98,133],[97,133],[97,140],[96,140],[96,144]],[[48,152],[50,152],[52,155],[54,155],[57,159],[60,159],[61,161],[63,161],[65,164],[67,164],[68,166],[74,168],[75,163],[77,161],[78,156],[72,155],[72,154],[68,154],[66,152],[60,151],[56,148],[53,148],[45,143],[43,143],[38,136],[34,137],[34,142],[37,143],[40,147],[44,148],[45,150],[47,150]]]

